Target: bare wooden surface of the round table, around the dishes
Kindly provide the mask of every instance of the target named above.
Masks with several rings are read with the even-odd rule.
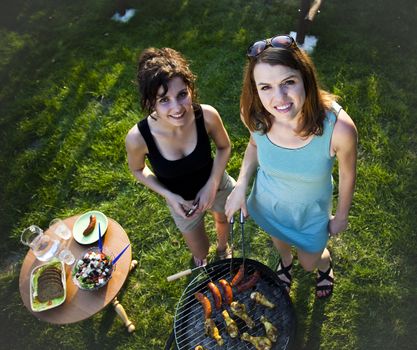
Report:
[[[71,228],[79,215],[72,216],[64,220],[64,222]],[[49,234],[49,230],[45,231]],[[97,242],[92,245],[81,245],[74,238],[64,241],[74,254],[76,260],[89,247],[97,246]],[[119,254],[127,244],[129,244],[129,237],[125,230],[115,220],[108,218],[107,231],[103,236],[103,246],[108,248],[116,256]],[[19,276],[19,289],[23,303],[26,308],[38,319],[54,324],[66,324],[84,320],[91,317],[97,312],[105,308],[118,294],[123,284],[125,283],[132,260],[132,249],[129,248],[124,252],[116,264],[113,271],[112,278],[106,286],[96,291],[85,291],[79,289],[72,281],[71,268],[72,266],[65,265],[66,281],[67,281],[67,296],[65,302],[56,308],[34,312],[30,306],[30,275],[32,270],[44,262],[36,259],[31,250],[27,253]]]

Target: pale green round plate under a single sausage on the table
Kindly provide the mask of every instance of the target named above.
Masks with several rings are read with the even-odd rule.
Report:
[[[90,215],[96,216],[96,226],[94,227],[93,232],[91,232],[88,236],[84,236],[83,232],[90,223]],[[77,219],[77,221],[74,223],[74,227],[72,228],[72,235],[74,236],[74,239],[80,244],[91,244],[97,242],[99,223],[101,229],[101,237],[103,237],[106,233],[108,225],[107,216],[98,210],[90,210],[84,213]]]

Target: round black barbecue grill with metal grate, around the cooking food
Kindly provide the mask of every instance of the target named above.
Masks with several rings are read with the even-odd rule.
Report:
[[[218,284],[220,279],[231,281],[244,263],[245,278],[253,272],[259,271],[260,279],[253,288],[241,293],[234,293],[233,300],[246,305],[248,315],[254,320],[255,327],[249,329],[246,323],[234,317],[230,307],[223,303],[220,310],[214,307],[214,300],[207,287],[209,282]],[[220,290],[222,290],[220,288]],[[273,302],[276,307],[268,309],[256,304],[250,299],[250,294],[258,291]],[[223,346],[218,346],[216,341],[205,335],[204,315],[201,304],[196,300],[194,294],[201,292],[207,296],[212,304],[212,319],[224,340]],[[221,311],[226,309],[236,321],[239,328],[239,336],[231,338],[226,331],[226,324],[221,315]],[[248,332],[252,336],[265,336],[265,328],[260,322],[260,317],[264,315],[277,329],[278,339],[273,343],[272,349],[290,349],[296,328],[295,313],[284,284],[277,277],[276,273],[268,266],[252,259],[233,258],[214,262],[199,269],[184,290],[175,311],[174,330],[168,339],[166,349],[171,349],[174,341],[178,350],[194,350],[197,345],[202,345],[204,349],[254,349],[254,346],[240,339],[243,332]]]

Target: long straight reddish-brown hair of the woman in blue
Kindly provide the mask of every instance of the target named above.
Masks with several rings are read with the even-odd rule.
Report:
[[[304,137],[313,134],[322,135],[326,110],[331,108],[337,96],[320,88],[313,62],[296,45],[288,48],[269,47],[259,55],[249,58],[240,95],[240,109],[246,127],[250,131],[260,131],[265,134],[271,129],[273,122],[273,116],[262,105],[256,89],[253,70],[258,63],[267,63],[272,66],[283,65],[301,73],[306,99],[298,132]]]

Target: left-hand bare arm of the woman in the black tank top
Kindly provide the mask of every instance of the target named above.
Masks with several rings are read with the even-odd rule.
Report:
[[[181,196],[172,193],[161,184],[155,174],[146,165],[147,146],[136,125],[129,130],[125,145],[129,169],[133,173],[133,176],[140,183],[164,197],[174,208],[175,212],[185,218],[186,216],[182,206],[188,206],[187,201]]]

